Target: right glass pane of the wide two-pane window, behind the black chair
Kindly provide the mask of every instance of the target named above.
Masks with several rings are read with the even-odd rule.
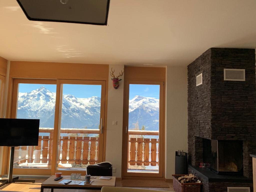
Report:
[[[101,85],[62,85],[58,169],[84,169],[98,162]]]

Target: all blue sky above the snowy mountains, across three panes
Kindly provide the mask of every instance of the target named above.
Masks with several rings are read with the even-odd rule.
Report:
[[[56,85],[51,84],[19,84],[19,92],[31,92],[35,89],[44,86],[51,92],[56,93]],[[130,84],[129,99],[134,98],[136,95],[143,97],[154,97],[159,99],[159,85],[141,85],[141,84]],[[74,85],[64,84],[63,94],[71,94],[77,98],[89,98],[92,96],[101,97],[101,86],[100,85]]]

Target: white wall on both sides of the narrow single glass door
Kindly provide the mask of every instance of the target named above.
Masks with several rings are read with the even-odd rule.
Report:
[[[123,70],[123,65],[110,65],[115,74]],[[125,75],[125,73],[124,73]],[[122,76],[124,79],[124,76]],[[106,161],[113,164],[121,177],[122,165],[122,126],[123,126],[123,80],[116,90],[109,75],[108,117],[106,135]],[[112,125],[117,121],[117,125]],[[165,178],[171,179],[175,173],[175,151],[187,152],[187,67],[166,67],[166,124],[165,124]]]

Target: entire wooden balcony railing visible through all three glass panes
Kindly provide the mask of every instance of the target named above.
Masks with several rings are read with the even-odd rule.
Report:
[[[36,164],[52,164],[53,128],[39,130],[38,146],[15,147],[14,163],[36,167]],[[40,134],[39,133],[39,134]],[[67,134],[80,134],[68,136]],[[61,129],[58,143],[57,164],[95,164],[98,162],[98,137],[87,137],[82,134],[99,134],[98,129]],[[156,138],[145,138],[145,135],[158,135],[158,131],[129,131],[128,167],[130,165],[156,166],[159,159],[159,145]],[[157,149],[158,148],[158,149]],[[158,158],[157,158],[158,157]]]

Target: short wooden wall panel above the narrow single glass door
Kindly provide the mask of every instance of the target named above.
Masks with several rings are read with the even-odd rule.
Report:
[[[165,67],[124,67],[124,80],[165,81]]]

